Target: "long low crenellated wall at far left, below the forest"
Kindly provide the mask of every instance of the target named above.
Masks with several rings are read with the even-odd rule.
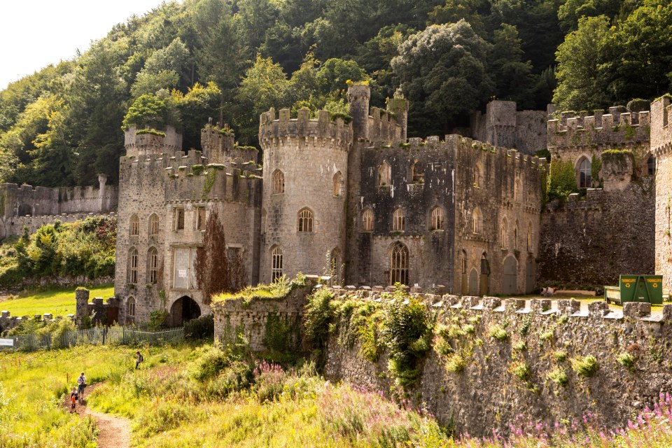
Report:
[[[106,181],[106,176],[99,176],[99,188],[0,184],[0,239],[20,235],[24,226],[34,231],[56,219],[70,223],[87,214],[108,214],[117,207],[118,188]]]

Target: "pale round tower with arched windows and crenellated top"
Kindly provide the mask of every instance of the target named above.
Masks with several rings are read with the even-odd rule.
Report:
[[[328,111],[317,120],[309,111],[262,113],[262,253],[260,281],[277,276],[323,274],[334,269],[342,279],[345,253],[346,188],[352,127]]]

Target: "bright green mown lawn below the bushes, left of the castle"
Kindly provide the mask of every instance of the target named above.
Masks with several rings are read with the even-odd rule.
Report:
[[[93,297],[108,299],[114,295],[114,286],[95,286],[90,288],[90,291],[90,300]],[[51,313],[54,316],[75,314],[75,288],[21,293],[18,299],[0,302],[0,310],[10,311],[12,316],[35,316],[45,313]]]

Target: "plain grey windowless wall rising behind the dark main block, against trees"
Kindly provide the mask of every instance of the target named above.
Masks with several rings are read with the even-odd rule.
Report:
[[[517,111],[512,101],[493,101],[470,116],[469,137],[533,155],[546,148],[547,111]]]

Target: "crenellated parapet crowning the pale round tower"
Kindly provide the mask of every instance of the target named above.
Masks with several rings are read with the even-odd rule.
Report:
[[[332,145],[349,151],[352,144],[352,126],[340,117],[330,120],[328,111],[318,111],[317,120],[309,118],[308,109],[300,109],[297,118],[290,118],[289,109],[281,109],[276,119],[275,111],[262,113],[259,125],[259,141],[262,146],[283,139],[314,139],[330,141]]]

